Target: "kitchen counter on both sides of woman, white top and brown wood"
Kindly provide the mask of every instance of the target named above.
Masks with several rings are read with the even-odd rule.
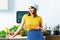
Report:
[[[26,40],[27,36],[17,35],[14,38],[0,38],[1,40]],[[44,36],[45,40],[60,40],[60,35]]]

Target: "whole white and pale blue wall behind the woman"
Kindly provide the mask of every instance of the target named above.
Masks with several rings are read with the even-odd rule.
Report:
[[[16,12],[28,10],[28,3],[33,0],[9,0],[9,9],[0,11],[0,30],[5,26],[12,27],[16,23]],[[54,27],[60,24],[60,0],[34,0],[40,5],[38,15],[43,18],[43,25],[47,24],[49,27]]]

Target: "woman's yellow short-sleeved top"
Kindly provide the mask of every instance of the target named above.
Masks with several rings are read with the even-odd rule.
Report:
[[[33,16],[28,16],[28,14],[25,14],[23,16],[22,21],[25,21],[23,28],[26,31],[35,29],[36,26],[40,26],[42,24],[41,16],[33,17]]]

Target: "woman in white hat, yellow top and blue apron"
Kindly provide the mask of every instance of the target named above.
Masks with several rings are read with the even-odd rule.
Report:
[[[24,28],[27,31],[27,40],[44,40],[42,35],[42,18],[37,15],[38,5],[32,4],[28,7],[28,14],[25,14],[22,18],[20,27],[17,29],[12,37]]]

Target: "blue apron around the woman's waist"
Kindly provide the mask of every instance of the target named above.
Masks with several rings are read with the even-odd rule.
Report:
[[[44,37],[40,30],[30,30],[27,34],[27,40],[44,40]]]

